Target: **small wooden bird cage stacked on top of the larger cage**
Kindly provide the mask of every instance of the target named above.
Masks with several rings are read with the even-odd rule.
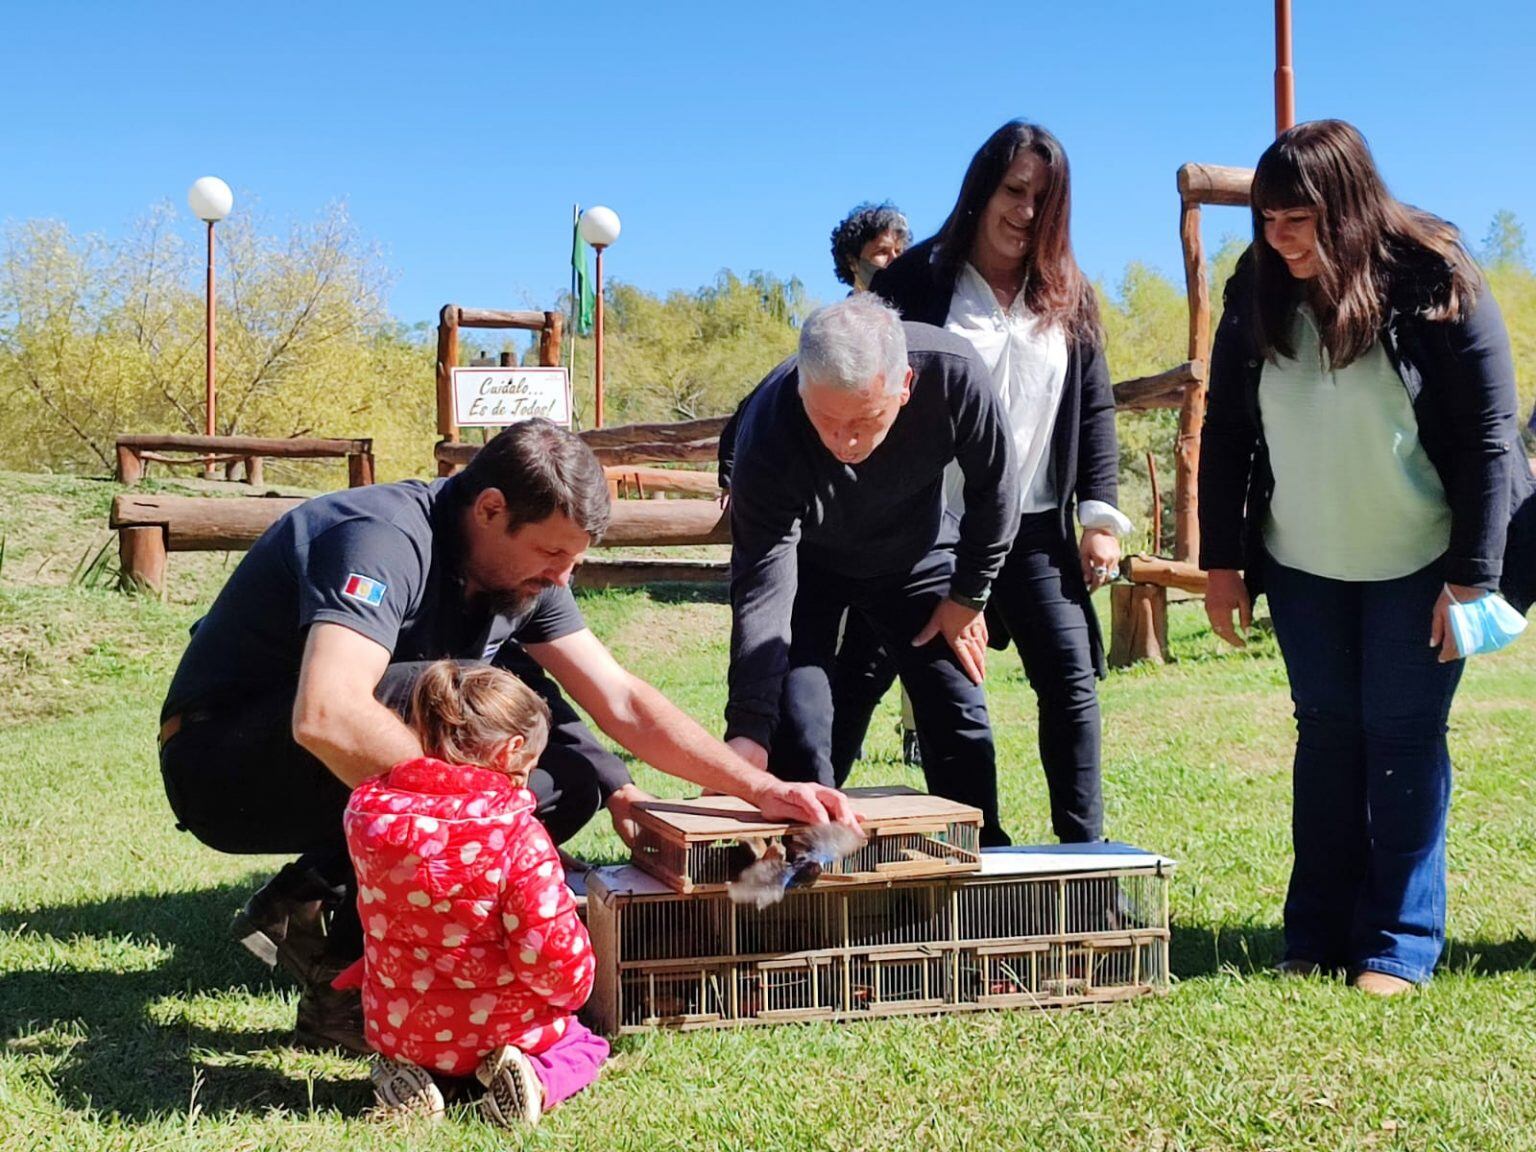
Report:
[[[980,809],[900,786],[849,788],[848,799],[868,842],[823,877],[848,883],[980,868]],[[648,800],[636,805],[634,822],[634,863],[677,892],[723,891],[745,860],[794,833],[734,796]]]

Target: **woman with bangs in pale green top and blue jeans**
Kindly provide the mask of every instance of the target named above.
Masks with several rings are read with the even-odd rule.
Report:
[[[1281,134],[1252,204],[1201,442],[1206,611],[1241,645],[1263,590],[1290,679],[1281,971],[1395,995],[1445,938],[1452,616],[1498,585],[1530,490],[1514,367],[1456,229],[1395,200],[1350,124]]]

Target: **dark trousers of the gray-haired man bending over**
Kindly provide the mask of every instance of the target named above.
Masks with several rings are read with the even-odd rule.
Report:
[[[982,843],[1003,845],[997,814],[997,757],[986,693],[960,668],[949,644],[912,637],[949,591],[954,554],[932,551],[906,576],[851,579],[800,561],[791,621],[790,670],[780,697],[768,768],[783,780],[836,783],[833,766],[833,676],[837,622],[857,613],[891,659],[923,733],[928,791],[982,809]]]

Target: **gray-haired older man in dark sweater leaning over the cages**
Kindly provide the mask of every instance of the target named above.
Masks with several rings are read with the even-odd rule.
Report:
[[[727,742],[782,779],[833,783],[829,674],[857,611],[897,662],[929,791],[980,808],[983,843],[1006,843],[982,608],[1018,492],[971,346],[849,296],[806,319],[734,432]],[[946,508],[951,462],[963,516]]]

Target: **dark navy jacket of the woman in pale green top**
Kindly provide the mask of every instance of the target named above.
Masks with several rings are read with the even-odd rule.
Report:
[[[1445,300],[1448,289],[1450,269],[1439,257],[1425,253],[1404,266],[1389,290],[1381,344],[1445,487],[1452,516],[1445,579],[1491,590],[1504,571],[1510,518],[1531,495],[1531,473],[1499,306],[1484,287],[1462,319],[1427,319],[1424,310]],[[1275,492],[1258,407],[1263,369],[1249,252],[1227,281],[1210,352],[1200,441],[1200,567],[1241,568],[1255,596],[1263,590],[1258,561]]]

